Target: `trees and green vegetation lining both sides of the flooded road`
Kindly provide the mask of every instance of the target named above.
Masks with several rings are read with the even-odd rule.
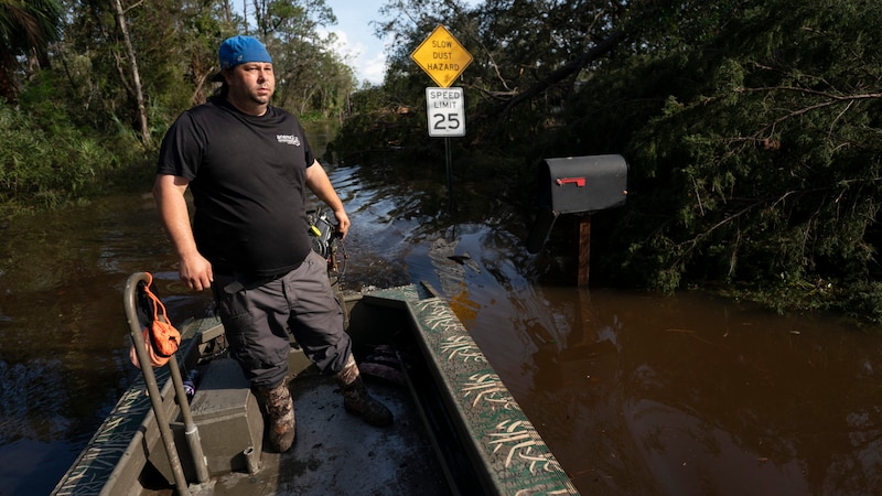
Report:
[[[7,209],[149,181],[164,129],[211,94],[217,44],[245,31],[280,54],[277,105],[345,118],[334,158],[443,168],[410,60],[443,22],[474,57],[454,83],[456,181],[524,212],[542,158],[627,159],[627,204],[593,216],[592,281],[882,322],[878,1],[388,0],[377,86],[320,34],[322,0],[21,4],[0,0]],[[41,22],[14,28],[25,14]]]

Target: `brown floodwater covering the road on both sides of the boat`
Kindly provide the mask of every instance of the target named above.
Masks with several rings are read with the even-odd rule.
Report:
[[[466,195],[444,214],[443,170],[330,175],[353,220],[343,284],[441,291],[582,494],[882,487],[876,335],[699,293],[549,282],[572,268],[528,255],[513,214]],[[208,299],[178,282],[147,195],[0,234],[0,495],[46,494],[137,374],[126,278],[153,272],[173,319]]]

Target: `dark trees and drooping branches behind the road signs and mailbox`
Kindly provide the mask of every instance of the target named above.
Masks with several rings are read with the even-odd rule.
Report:
[[[443,22],[475,56],[459,82],[470,174],[496,172],[526,193],[540,158],[627,158],[627,205],[594,223],[606,238],[592,247],[592,280],[739,288],[781,308],[872,316],[870,282],[882,272],[875,7],[389,1],[378,26],[394,33],[388,100],[357,114],[346,142],[421,155],[424,128],[413,133],[390,109],[404,104],[423,119],[427,79],[409,54]],[[557,76],[616,32],[624,37],[606,56]],[[849,303],[848,288],[864,296]]]

